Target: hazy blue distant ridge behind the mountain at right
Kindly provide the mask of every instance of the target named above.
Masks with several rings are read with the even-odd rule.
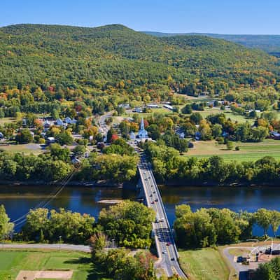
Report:
[[[144,34],[169,37],[169,36],[209,36],[212,38],[220,38],[234,43],[240,43],[248,48],[259,48],[265,50],[271,55],[280,57],[280,35],[228,35],[228,34],[211,34],[211,33],[162,33],[154,31],[143,31]]]

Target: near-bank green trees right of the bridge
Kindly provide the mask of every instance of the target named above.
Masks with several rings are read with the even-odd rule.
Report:
[[[189,205],[183,204],[176,207],[174,230],[179,246],[207,247],[250,239],[255,223],[264,230],[265,237],[269,227],[276,237],[279,217],[279,211],[267,209],[237,213],[230,209],[202,208],[193,212]]]

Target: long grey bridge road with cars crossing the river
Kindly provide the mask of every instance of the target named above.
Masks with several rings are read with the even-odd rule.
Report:
[[[134,147],[137,150],[136,147]],[[153,223],[153,232],[155,234],[155,243],[157,246],[158,256],[160,258],[160,267],[162,267],[167,276],[177,274],[183,279],[186,275],[183,273],[179,262],[176,244],[174,242],[172,230],[169,226],[165,207],[162,203],[160,191],[153,176],[150,164],[146,160],[146,156],[141,154],[141,162],[138,165],[141,182],[144,187],[146,203],[156,214],[156,221]]]

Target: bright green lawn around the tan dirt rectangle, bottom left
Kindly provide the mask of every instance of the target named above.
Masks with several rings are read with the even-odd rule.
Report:
[[[90,254],[74,251],[0,251],[0,280],[13,280],[20,270],[71,269],[72,280],[99,279],[91,274]]]

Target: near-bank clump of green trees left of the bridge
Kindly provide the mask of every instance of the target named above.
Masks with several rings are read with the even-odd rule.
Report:
[[[20,235],[25,240],[40,242],[57,242],[60,236],[62,241],[74,244],[85,244],[93,236],[95,241],[100,241],[95,244],[99,246],[105,246],[108,238],[114,239],[118,246],[146,248],[151,246],[153,221],[153,210],[139,202],[123,201],[102,209],[98,221],[88,214],[65,209],[38,208],[29,211]]]

